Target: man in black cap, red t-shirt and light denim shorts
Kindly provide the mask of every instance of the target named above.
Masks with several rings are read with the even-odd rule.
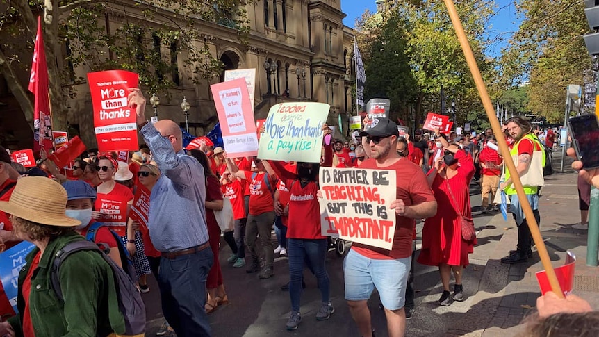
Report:
[[[370,129],[360,133],[368,140],[370,158],[360,168],[393,170],[397,176],[395,236],[391,250],[354,243],[343,264],[345,299],[361,336],[372,336],[368,299],[376,287],[385,307],[388,335],[404,336],[406,315],[404,295],[412,254],[415,219],[432,217],[437,204],[418,165],[402,158],[397,147],[397,124],[388,118],[375,118]]]

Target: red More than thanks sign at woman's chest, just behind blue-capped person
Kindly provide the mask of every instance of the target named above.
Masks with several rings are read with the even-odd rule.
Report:
[[[98,221],[104,222],[119,236],[126,236],[127,234],[127,202],[129,200],[126,197],[106,195],[104,193],[98,193],[95,202],[96,211],[102,214],[101,219]]]

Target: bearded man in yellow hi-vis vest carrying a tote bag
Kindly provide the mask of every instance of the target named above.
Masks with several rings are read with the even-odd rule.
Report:
[[[534,151],[541,151],[541,143],[532,135],[532,124],[525,120],[523,117],[511,117],[507,120],[507,132],[514,138],[516,142],[514,147],[511,148],[510,156],[517,156],[518,161],[514,163],[516,165],[516,172],[518,176],[523,176],[530,167],[532,161],[532,154]],[[545,165],[545,151],[543,153],[543,161],[541,167]],[[505,170],[505,169],[504,169]],[[531,172],[532,173],[532,172]],[[539,172],[543,174],[543,172]],[[514,215],[516,225],[518,225],[518,249],[509,252],[509,256],[501,259],[502,263],[520,263],[524,262],[532,256],[530,229],[528,229],[527,219],[525,218],[522,205],[516,195],[516,188],[511,183],[511,177],[507,170],[505,170],[505,181],[499,186],[500,190],[503,190],[506,195],[509,196],[510,206],[509,210]],[[532,213],[536,219],[536,224],[540,225],[541,215],[539,215],[539,195],[537,191],[538,186],[523,186],[524,192],[528,199],[530,206],[532,207]]]

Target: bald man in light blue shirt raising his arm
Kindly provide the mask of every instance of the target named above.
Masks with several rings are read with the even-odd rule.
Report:
[[[158,286],[163,314],[179,337],[210,336],[204,290],[213,254],[204,168],[183,152],[179,126],[172,120],[148,123],[142,92],[129,91],[129,108],[136,110],[140,134],[162,172],[152,189],[148,228],[154,247],[162,252]]]

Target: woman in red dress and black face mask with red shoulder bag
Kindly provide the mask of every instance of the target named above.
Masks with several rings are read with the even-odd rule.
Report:
[[[468,265],[468,254],[473,253],[476,244],[476,238],[463,240],[460,217],[472,217],[469,192],[475,167],[472,157],[458,145],[450,145],[438,131],[436,135],[445,148],[445,156],[438,158],[427,179],[438,208],[436,215],[425,221],[418,262],[438,266],[443,283],[443,295],[439,304],[448,306],[451,304],[451,297],[459,302],[464,299],[461,284],[463,267]],[[453,296],[449,288],[452,271],[455,277]]]

